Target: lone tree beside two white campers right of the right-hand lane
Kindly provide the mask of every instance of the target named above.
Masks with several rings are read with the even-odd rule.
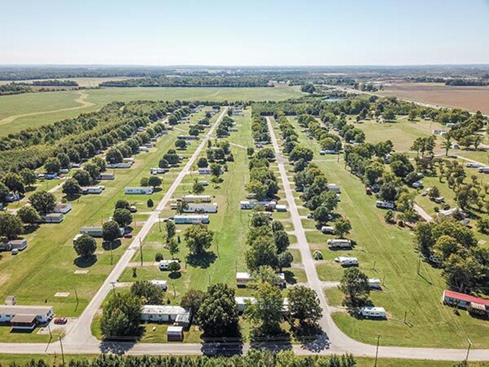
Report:
[[[345,294],[344,304],[359,306],[364,304],[370,294],[367,275],[357,268],[346,269],[338,288]]]

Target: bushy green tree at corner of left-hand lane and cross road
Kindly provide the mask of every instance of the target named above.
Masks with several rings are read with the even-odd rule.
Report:
[[[100,329],[104,338],[134,337],[140,333],[141,300],[131,292],[113,293],[103,308]]]

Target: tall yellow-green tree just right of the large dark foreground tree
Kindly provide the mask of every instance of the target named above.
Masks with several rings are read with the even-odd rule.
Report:
[[[280,289],[268,282],[261,282],[255,294],[255,301],[244,310],[244,318],[251,321],[253,334],[275,335],[280,331],[283,320],[284,298]]]

